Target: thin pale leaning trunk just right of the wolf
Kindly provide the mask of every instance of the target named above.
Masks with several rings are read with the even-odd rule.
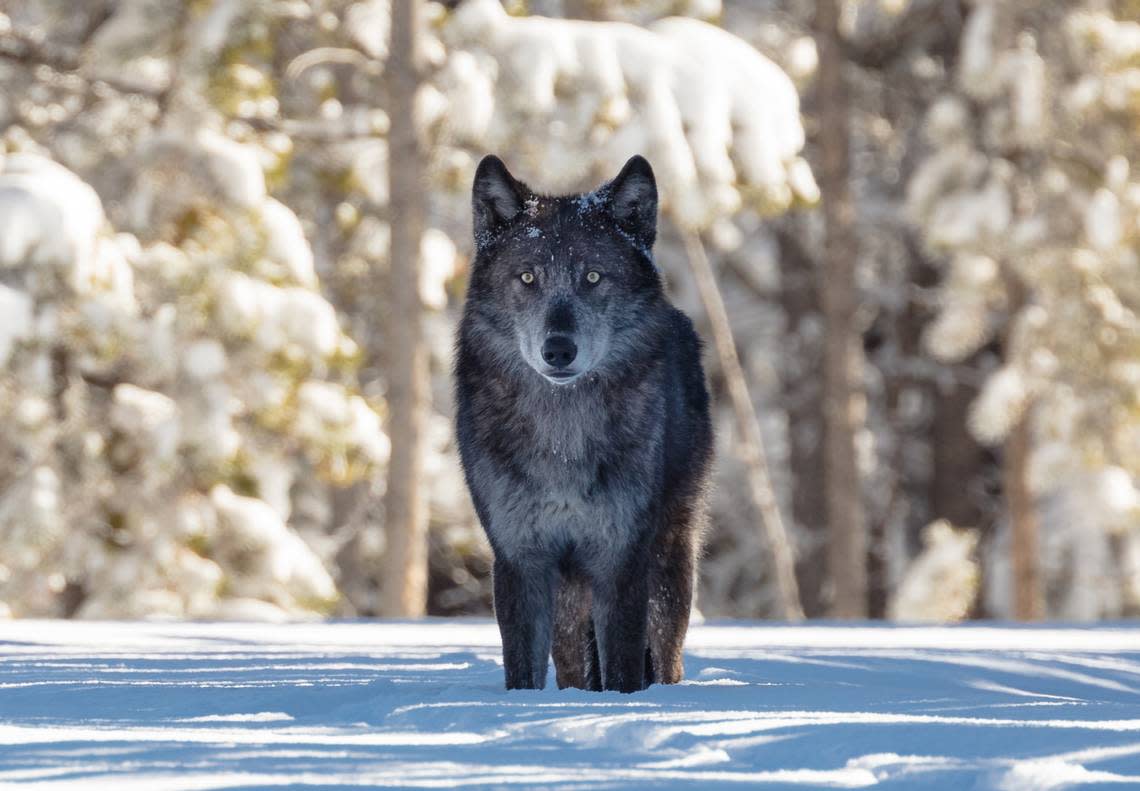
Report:
[[[740,425],[740,445],[743,460],[748,467],[748,484],[760,516],[772,552],[772,565],[775,570],[776,594],[780,614],[784,620],[798,621],[804,618],[804,607],[799,603],[799,587],[796,582],[796,564],[791,545],[788,543],[788,531],[784,530],[783,517],[776,504],[772,479],[768,475],[768,464],[764,454],[764,438],[760,434],[760,423],[756,419],[752,398],[748,393],[744,370],[740,366],[736,344],[728,325],[728,313],[724,309],[724,300],[716,285],[712,268],[705,254],[705,245],[693,233],[685,234],[685,251],[689,253],[689,264],[697,280],[697,290],[701,294],[705,312],[708,313],[712,327],[712,343],[720,360],[720,370],[728,385],[728,395],[736,413]]]

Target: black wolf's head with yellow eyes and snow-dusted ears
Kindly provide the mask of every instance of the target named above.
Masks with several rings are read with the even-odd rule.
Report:
[[[653,266],[657,184],[641,156],[592,193],[534,193],[502,160],[479,163],[467,309],[554,384],[629,361],[643,312],[661,299]]]

